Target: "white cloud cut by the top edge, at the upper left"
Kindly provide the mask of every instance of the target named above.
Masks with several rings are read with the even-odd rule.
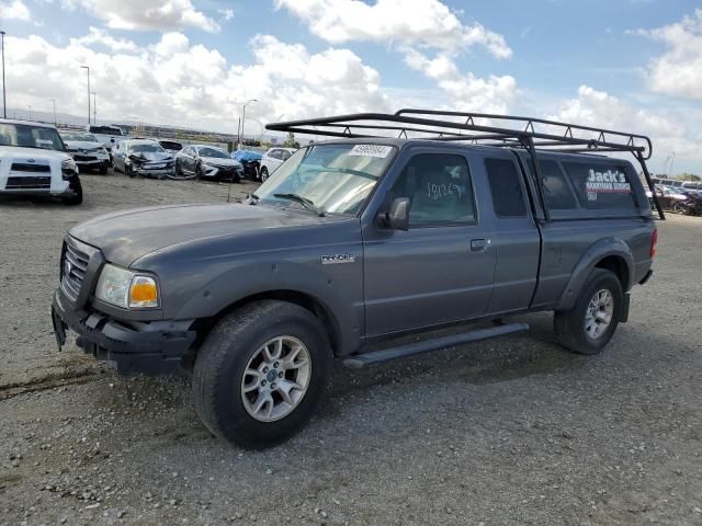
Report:
[[[64,0],[69,8],[82,7],[107,27],[133,31],[173,31],[199,27],[220,30],[213,19],[197,11],[191,0]]]

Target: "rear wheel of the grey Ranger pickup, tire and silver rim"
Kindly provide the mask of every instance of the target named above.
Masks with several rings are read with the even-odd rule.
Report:
[[[607,306],[608,295],[611,309]],[[616,331],[623,302],[624,293],[616,275],[604,268],[592,268],[573,308],[556,311],[554,316],[558,342],[579,354],[602,352]]]

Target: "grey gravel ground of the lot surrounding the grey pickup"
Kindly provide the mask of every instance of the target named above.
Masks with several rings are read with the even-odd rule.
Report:
[[[75,221],[227,187],[86,187],[79,208],[0,204],[0,524],[702,524],[701,218],[659,225],[656,274],[602,355],[562,351],[534,315],[529,335],[337,367],[303,433],[251,453],[200,424],[185,378],[58,355],[47,316]]]

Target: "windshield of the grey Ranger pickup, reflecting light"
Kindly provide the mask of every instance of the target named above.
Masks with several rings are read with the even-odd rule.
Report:
[[[296,194],[332,214],[356,214],[396,150],[381,145],[316,145],[297,150],[256,192],[263,202]],[[278,197],[275,196],[278,194]]]

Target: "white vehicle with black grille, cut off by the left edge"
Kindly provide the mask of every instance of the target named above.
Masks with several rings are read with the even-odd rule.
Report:
[[[79,205],[76,162],[54,126],[0,118],[0,195],[50,195]]]

